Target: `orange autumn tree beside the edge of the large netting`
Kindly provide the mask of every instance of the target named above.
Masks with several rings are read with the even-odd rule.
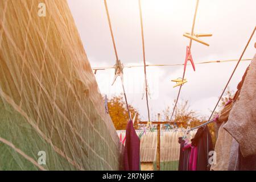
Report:
[[[127,122],[129,121],[129,115],[126,108],[126,102],[123,100],[123,96],[114,96],[108,100],[109,115],[112,118],[116,130],[125,130]],[[134,118],[135,113],[137,116],[134,122],[134,128],[138,128],[139,112],[132,105],[129,104],[129,110],[131,113],[131,119]]]

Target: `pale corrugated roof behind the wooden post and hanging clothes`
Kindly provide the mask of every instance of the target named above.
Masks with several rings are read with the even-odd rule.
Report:
[[[122,134],[122,138],[125,137],[125,130],[118,130],[118,136]],[[141,133],[141,130],[136,131],[137,134]],[[178,138],[183,136],[183,130],[169,130],[161,131],[160,133],[160,161],[167,162],[173,160],[179,160],[180,144]],[[196,134],[196,130],[191,131],[192,138]],[[146,135],[141,138],[141,162],[154,162],[156,160],[156,146],[157,146],[157,132],[148,131]]]

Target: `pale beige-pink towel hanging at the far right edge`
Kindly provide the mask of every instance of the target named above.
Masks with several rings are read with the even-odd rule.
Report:
[[[224,125],[240,145],[244,158],[256,155],[256,55],[251,60],[242,84],[240,96],[234,103],[229,120]]]

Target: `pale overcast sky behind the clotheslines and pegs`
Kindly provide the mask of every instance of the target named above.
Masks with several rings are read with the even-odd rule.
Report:
[[[142,39],[138,0],[108,0],[110,19],[118,57],[124,65],[142,65]],[[68,0],[69,7],[80,32],[85,52],[92,67],[112,66],[115,55],[103,0]],[[189,39],[196,0],[142,0],[144,39],[147,64],[184,63],[185,48]],[[195,32],[213,34],[201,38],[210,46],[193,42],[194,62],[239,59],[253,28],[256,25],[255,0],[201,0],[197,11]],[[256,49],[254,35],[243,59],[253,58]],[[230,82],[229,89],[236,91],[250,61],[241,62]],[[216,105],[236,62],[196,65],[196,72],[188,65],[181,89],[181,100],[189,100],[197,114],[209,116]],[[146,100],[141,100],[143,68],[124,69],[127,100],[147,119]],[[172,106],[179,87],[172,88],[171,79],[182,77],[183,67],[147,67],[150,86],[151,117],[167,106]],[[111,86],[114,69],[98,71],[96,79],[102,94],[110,98],[122,93],[119,78]]]

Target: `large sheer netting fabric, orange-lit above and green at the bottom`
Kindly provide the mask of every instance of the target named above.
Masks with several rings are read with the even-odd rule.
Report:
[[[1,0],[0,169],[117,170],[120,151],[67,2]]]

